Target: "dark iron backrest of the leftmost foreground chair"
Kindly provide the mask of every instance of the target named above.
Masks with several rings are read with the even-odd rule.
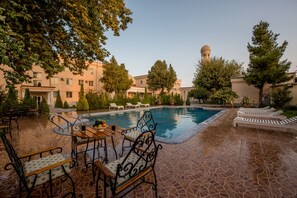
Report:
[[[23,164],[22,164],[20,158],[18,157],[16,151],[14,150],[14,148],[11,145],[11,143],[9,142],[9,140],[6,138],[5,133],[0,132],[0,136],[1,136],[2,142],[5,146],[5,150],[9,156],[9,159],[10,159],[10,163],[5,165],[5,170],[9,170],[8,167],[12,166],[14,168],[14,170],[16,171],[17,175],[19,176],[22,184],[27,188],[25,172],[24,172]]]

